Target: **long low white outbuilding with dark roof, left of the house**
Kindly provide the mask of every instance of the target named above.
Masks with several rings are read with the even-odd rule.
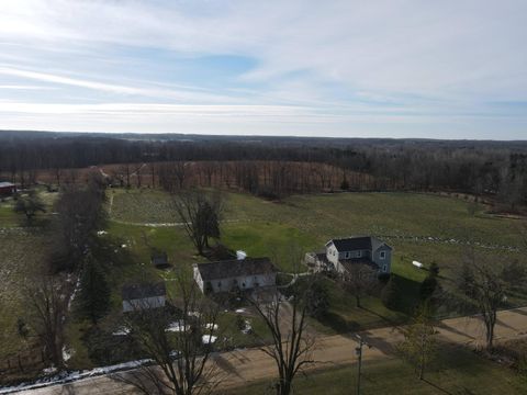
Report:
[[[194,280],[203,293],[244,291],[277,284],[269,258],[245,258],[194,264]]]

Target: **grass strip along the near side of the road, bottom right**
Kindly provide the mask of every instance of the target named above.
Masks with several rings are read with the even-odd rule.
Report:
[[[441,348],[439,360],[419,381],[413,369],[399,359],[366,360],[362,363],[361,394],[525,394],[527,379],[475,353]],[[270,381],[253,382],[224,392],[226,395],[270,394]],[[355,394],[357,365],[335,366],[299,375],[295,394]]]

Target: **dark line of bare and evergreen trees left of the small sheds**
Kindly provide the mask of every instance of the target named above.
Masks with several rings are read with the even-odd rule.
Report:
[[[65,185],[51,219],[49,250],[35,278],[27,279],[27,316],[22,336],[35,335],[46,357],[64,366],[65,325],[74,294],[80,316],[97,323],[109,309],[110,287],[99,263],[97,230],[104,224],[104,182],[93,174],[88,184]],[[22,206],[24,210],[20,208]],[[36,203],[35,203],[36,202]],[[38,203],[38,204],[37,204]],[[27,215],[41,206],[35,193],[19,196],[16,211]],[[29,324],[25,325],[25,321]],[[31,330],[30,330],[31,328]]]

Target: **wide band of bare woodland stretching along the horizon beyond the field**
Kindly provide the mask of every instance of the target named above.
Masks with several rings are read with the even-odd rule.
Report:
[[[227,185],[281,196],[312,190],[456,191],[495,195],[509,210],[526,203],[527,145],[442,142],[211,136],[0,135],[0,174],[22,187],[38,171],[127,163],[119,183],[166,189]],[[197,168],[194,162],[201,162]],[[144,163],[149,163],[148,173]],[[166,165],[165,165],[166,163]],[[265,165],[264,165],[265,163]],[[294,165],[296,163],[296,165]],[[298,163],[303,163],[299,166]],[[329,169],[324,169],[328,166]],[[157,182],[156,182],[157,179]]]

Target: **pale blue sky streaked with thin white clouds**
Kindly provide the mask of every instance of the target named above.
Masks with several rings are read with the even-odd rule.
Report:
[[[0,129],[527,139],[525,0],[0,0]]]

